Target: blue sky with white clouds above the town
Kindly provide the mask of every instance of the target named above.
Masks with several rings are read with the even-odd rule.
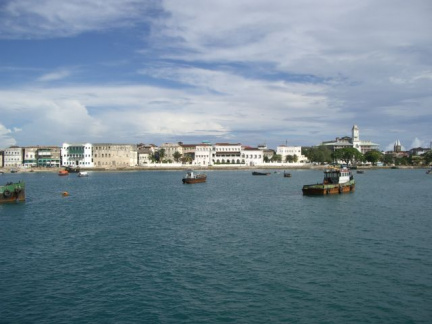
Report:
[[[430,0],[0,0],[0,149],[432,141]]]

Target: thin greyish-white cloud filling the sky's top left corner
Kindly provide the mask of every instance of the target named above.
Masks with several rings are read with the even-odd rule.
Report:
[[[146,17],[155,1],[6,0],[0,38],[69,37],[88,31],[131,26]]]

